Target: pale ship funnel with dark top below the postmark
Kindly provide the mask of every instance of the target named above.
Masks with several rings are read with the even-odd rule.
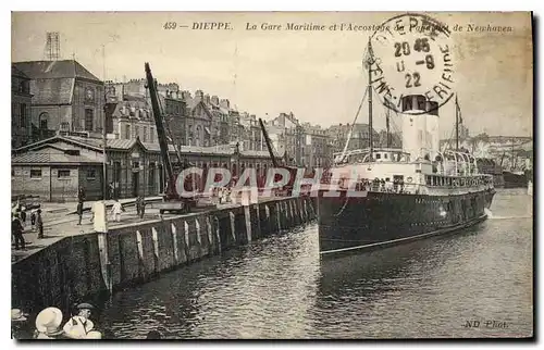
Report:
[[[438,103],[423,95],[403,97],[403,149],[410,159],[433,160],[440,151]]]

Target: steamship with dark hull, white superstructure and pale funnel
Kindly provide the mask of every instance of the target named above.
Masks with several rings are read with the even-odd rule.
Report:
[[[347,151],[348,136],[331,168],[336,175],[317,198],[323,258],[469,227],[486,218],[495,195],[493,176],[479,172],[472,154],[441,151],[438,105],[424,96],[401,98],[401,149],[372,147],[372,90],[369,85],[370,147]],[[457,98],[455,104],[458,129]],[[349,195],[354,187],[357,197]]]

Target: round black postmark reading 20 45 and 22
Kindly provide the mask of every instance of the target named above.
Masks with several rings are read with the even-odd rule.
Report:
[[[425,96],[434,108],[454,96],[453,41],[448,27],[424,14],[385,21],[369,39],[371,85],[384,105],[400,113],[403,96]]]

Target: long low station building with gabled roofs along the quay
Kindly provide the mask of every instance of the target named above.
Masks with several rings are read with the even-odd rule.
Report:
[[[107,140],[107,184],[118,198],[157,196],[164,190],[165,171],[158,142],[141,139]],[[173,146],[171,161],[177,163]],[[265,173],[272,165],[269,152],[222,147],[182,146],[185,160],[203,170],[212,166],[254,167]],[[54,136],[12,151],[13,195],[39,196],[45,201],[75,201],[83,186],[88,200],[102,198],[103,143],[98,138]],[[107,193],[110,198],[113,193]]]

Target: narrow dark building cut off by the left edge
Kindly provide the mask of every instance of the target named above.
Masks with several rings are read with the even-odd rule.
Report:
[[[11,66],[11,147],[32,142],[30,78]]]

